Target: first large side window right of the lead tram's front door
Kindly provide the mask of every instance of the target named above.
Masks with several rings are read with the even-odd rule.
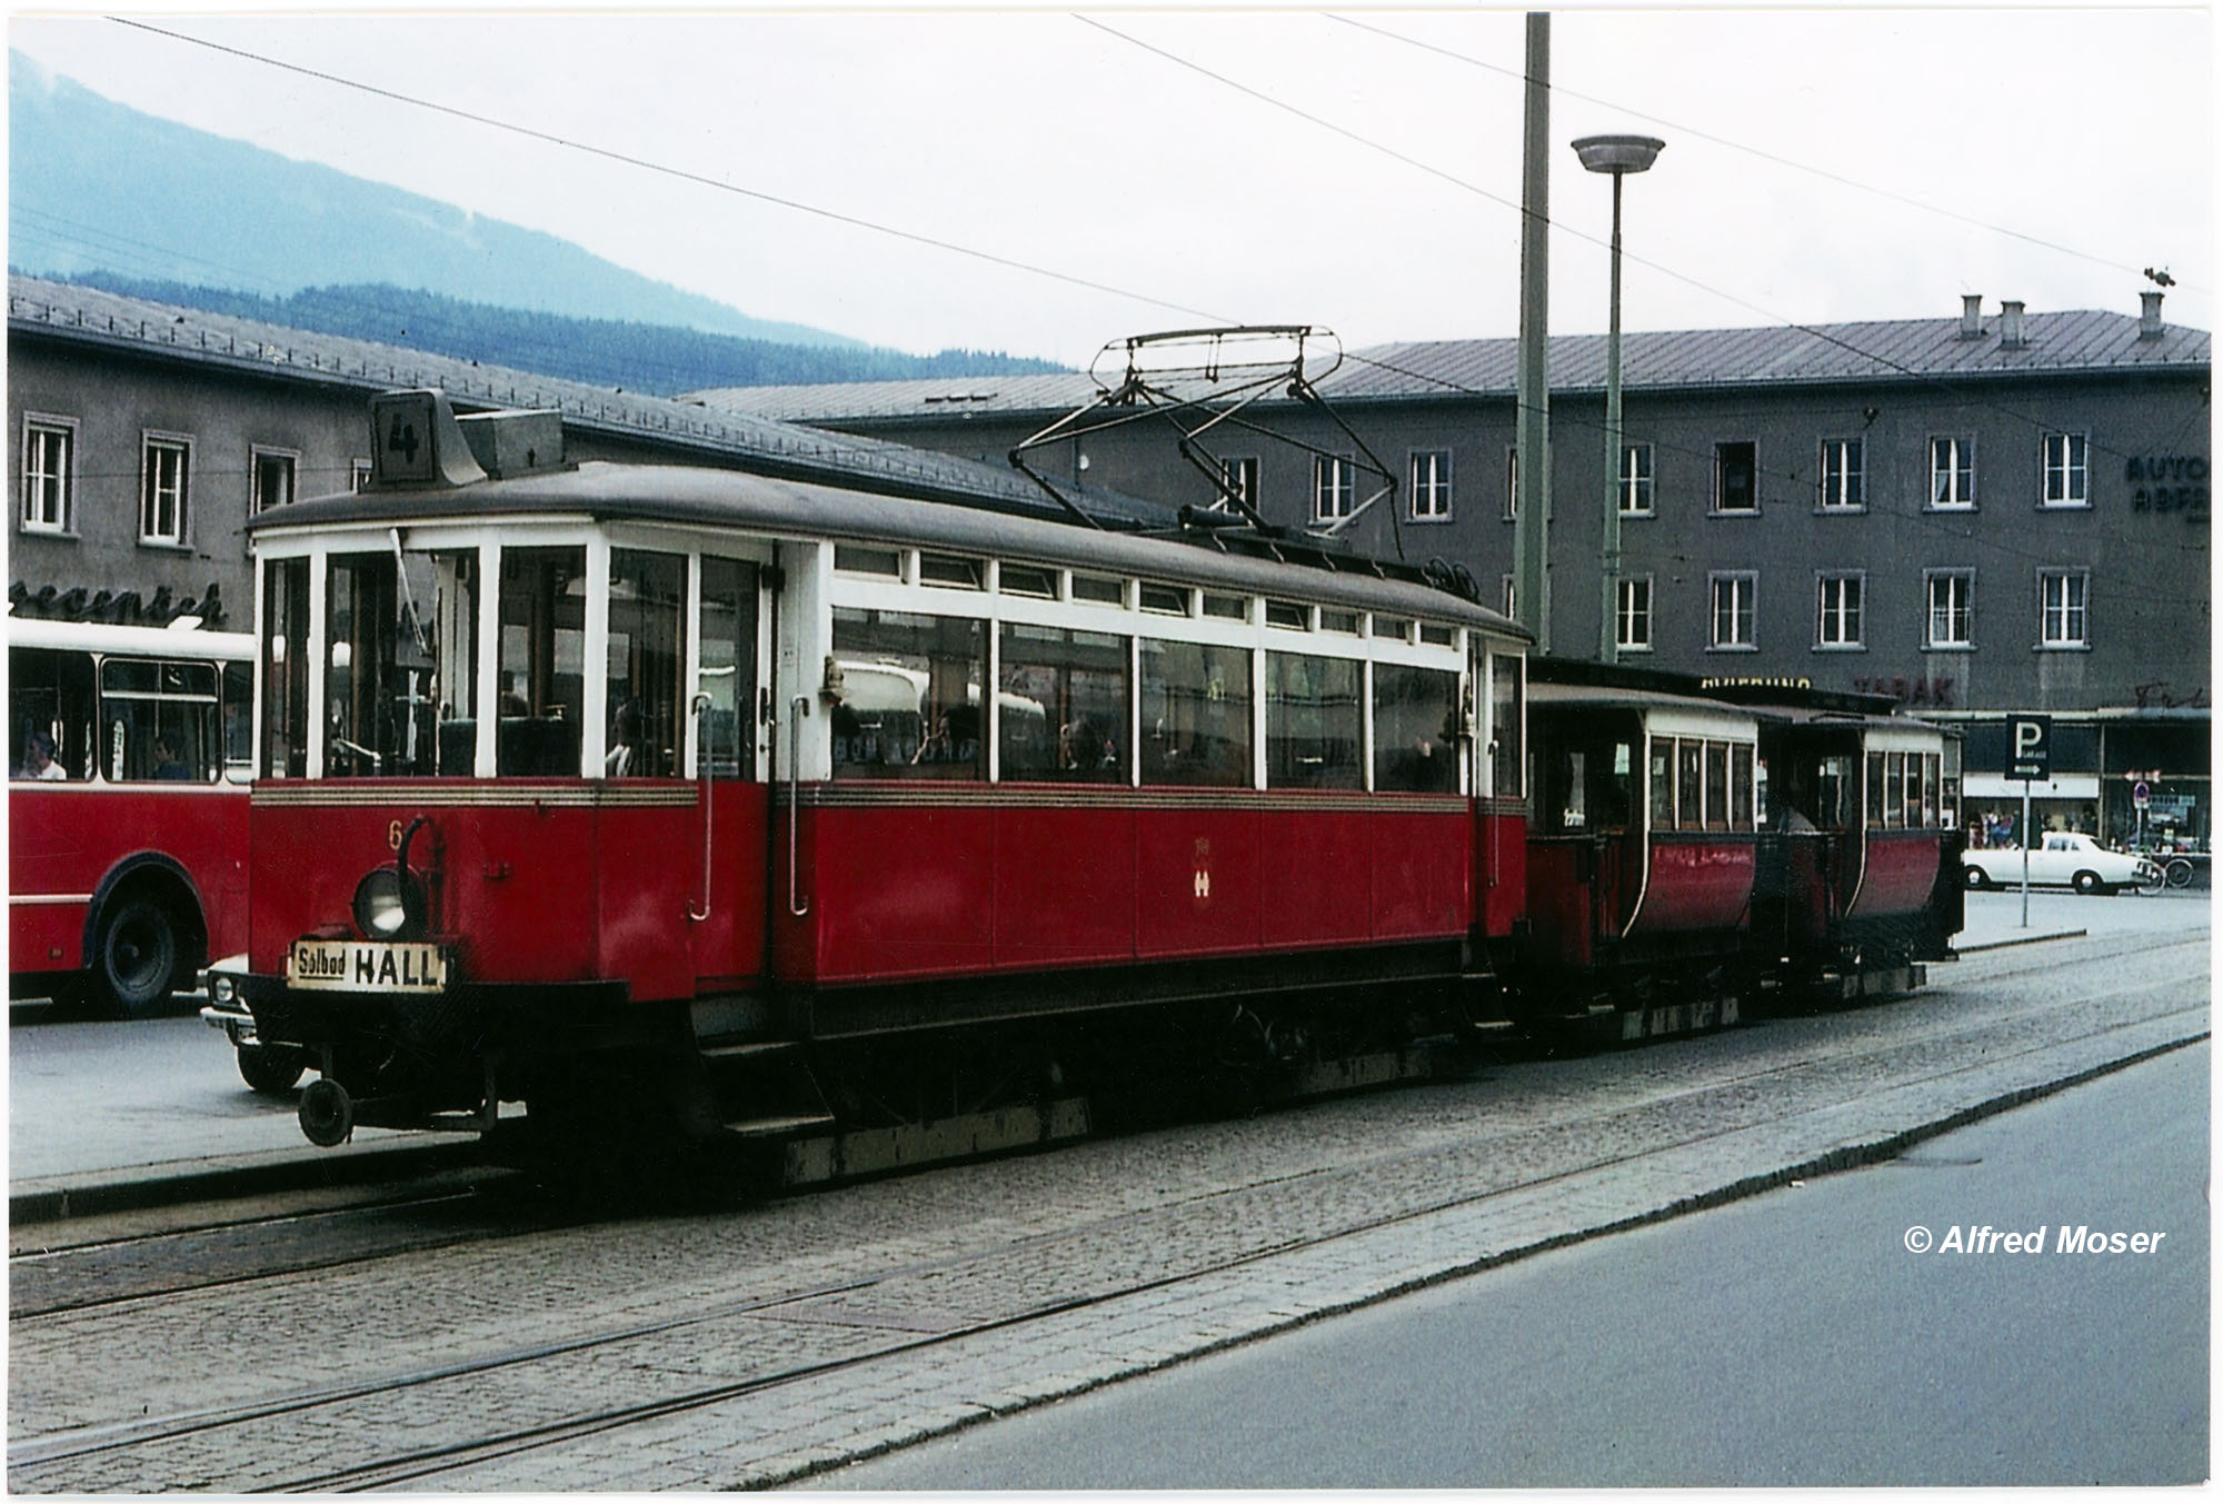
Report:
[[[985,623],[834,607],[836,779],[985,779]]]

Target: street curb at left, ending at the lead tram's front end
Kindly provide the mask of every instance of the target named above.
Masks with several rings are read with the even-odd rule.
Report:
[[[71,1217],[147,1210],[227,1197],[273,1195],[325,1186],[362,1186],[400,1175],[429,1175],[482,1164],[478,1139],[469,1144],[393,1144],[356,1150],[273,1150],[207,1159],[196,1168],[160,1175],[147,1166],[89,1175],[49,1175],[9,1186],[9,1224],[24,1228]]]

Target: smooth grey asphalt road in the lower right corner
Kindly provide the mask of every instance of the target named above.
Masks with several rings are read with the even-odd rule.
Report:
[[[2207,1046],[2176,1050],[1887,1166],[1547,1253],[809,1486],[2203,1482],[2207,1072]],[[2045,1246],[1905,1246],[1910,1228],[1947,1244],[1985,1226],[2043,1230]],[[2143,1255],[2061,1253],[2063,1226],[2163,1237]]]

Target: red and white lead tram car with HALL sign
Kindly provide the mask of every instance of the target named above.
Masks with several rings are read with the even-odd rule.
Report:
[[[840,476],[487,476],[433,394],[373,425],[367,492],[253,523],[236,986],[322,1072],[311,1139],[522,1101],[558,1137],[823,1128],[831,1172],[929,1121],[985,1146],[1145,1035],[1292,1059],[1494,1003],[1503,616]]]

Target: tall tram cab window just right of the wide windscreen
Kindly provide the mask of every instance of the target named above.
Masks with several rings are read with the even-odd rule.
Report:
[[[587,550],[502,550],[500,776],[578,776],[587,703]]]

